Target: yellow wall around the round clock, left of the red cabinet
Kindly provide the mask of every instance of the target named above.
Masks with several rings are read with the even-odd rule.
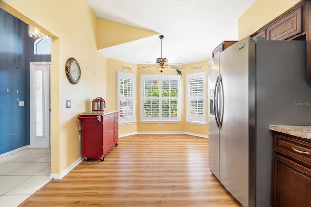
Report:
[[[86,1],[3,0],[1,8],[52,37],[51,174],[60,174],[81,156],[77,115],[91,110],[92,99],[106,97],[107,60],[96,47],[97,18]],[[66,78],[69,57],[81,67],[76,85]]]

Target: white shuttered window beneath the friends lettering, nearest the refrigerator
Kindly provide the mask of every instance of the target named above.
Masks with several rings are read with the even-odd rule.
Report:
[[[207,125],[206,72],[186,76],[186,122]]]

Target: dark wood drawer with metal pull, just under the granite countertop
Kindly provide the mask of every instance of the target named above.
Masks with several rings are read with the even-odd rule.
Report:
[[[275,134],[274,151],[311,166],[311,143],[308,141]]]

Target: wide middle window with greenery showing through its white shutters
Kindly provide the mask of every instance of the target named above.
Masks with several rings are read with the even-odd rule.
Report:
[[[180,122],[180,76],[141,75],[141,122]]]

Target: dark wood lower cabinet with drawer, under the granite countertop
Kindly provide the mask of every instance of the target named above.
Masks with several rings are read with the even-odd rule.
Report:
[[[311,140],[274,133],[273,207],[311,207]]]

